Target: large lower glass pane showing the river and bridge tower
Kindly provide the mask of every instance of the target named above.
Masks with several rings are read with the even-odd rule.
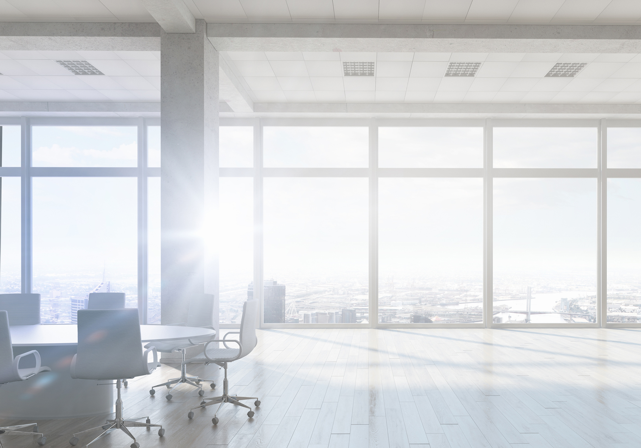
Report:
[[[494,179],[495,323],[596,321],[596,186]]]

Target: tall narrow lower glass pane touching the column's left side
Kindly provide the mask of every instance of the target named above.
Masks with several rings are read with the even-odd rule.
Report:
[[[160,324],[160,177],[147,178],[147,323]]]

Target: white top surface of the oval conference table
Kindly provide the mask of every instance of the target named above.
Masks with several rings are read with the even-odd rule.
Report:
[[[78,326],[14,325],[11,341],[14,347],[24,346],[75,346],[78,344]],[[140,342],[188,339],[196,336],[215,335],[214,330],[193,326],[140,325]]]

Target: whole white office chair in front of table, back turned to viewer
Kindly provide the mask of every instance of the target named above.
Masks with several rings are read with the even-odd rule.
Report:
[[[149,352],[154,355],[154,362],[147,362]],[[158,426],[158,435],[163,436],[162,425],[151,423],[149,415],[124,419],[122,417],[121,378],[148,375],[158,367],[156,349],[150,347],[144,353],[140,347],[140,322],[137,308],[117,310],[78,310],[78,353],[71,361],[71,378],[83,380],[115,380],[118,390],[116,415],[107,420],[103,426],[86,429],[75,433],[69,443],[78,444],[78,435],[103,429],[103,433],[87,445],[96,442],[101,436],[113,429],[121,429],[133,438],[131,448],[140,448],[136,438],[131,435],[127,426]],[[87,397],[90,399],[90,397]],[[145,423],[136,420],[147,419]]]

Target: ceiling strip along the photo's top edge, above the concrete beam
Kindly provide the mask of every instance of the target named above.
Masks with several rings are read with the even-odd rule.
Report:
[[[640,0],[184,0],[208,22],[641,24]],[[154,22],[139,0],[0,0],[0,20]]]

